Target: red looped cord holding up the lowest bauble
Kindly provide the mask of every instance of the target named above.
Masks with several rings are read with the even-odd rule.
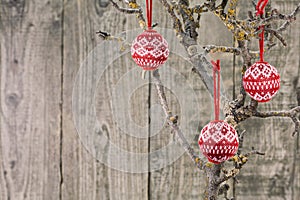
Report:
[[[211,61],[213,65],[213,78],[214,78],[214,108],[215,108],[215,120],[219,120],[220,116],[220,60],[217,62]],[[216,74],[218,78],[216,78]],[[218,85],[216,84],[216,79],[218,79]]]

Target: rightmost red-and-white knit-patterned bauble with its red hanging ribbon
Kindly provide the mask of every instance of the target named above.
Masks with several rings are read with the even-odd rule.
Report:
[[[256,6],[256,15],[262,16],[268,0],[260,0]],[[258,102],[270,101],[280,88],[280,75],[276,68],[264,61],[264,26],[259,30],[260,61],[249,67],[243,77],[243,86],[249,96]]]

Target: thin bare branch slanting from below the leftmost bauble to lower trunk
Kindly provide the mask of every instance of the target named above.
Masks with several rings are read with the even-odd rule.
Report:
[[[190,146],[186,138],[184,137],[184,134],[182,133],[182,130],[177,124],[177,117],[172,115],[172,112],[169,109],[168,102],[166,99],[166,95],[164,92],[164,86],[162,85],[162,82],[160,80],[159,72],[158,70],[155,70],[153,72],[153,79],[156,86],[157,94],[160,100],[160,104],[163,108],[163,111],[165,113],[165,116],[167,118],[168,124],[170,128],[174,131],[176,134],[180,144],[184,148],[185,152],[189,155],[189,157],[194,162],[195,166],[197,166],[199,169],[203,169],[204,166],[204,160],[200,159],[196,153],[195,150]],[[176,119],[176,120],[174,120]]]

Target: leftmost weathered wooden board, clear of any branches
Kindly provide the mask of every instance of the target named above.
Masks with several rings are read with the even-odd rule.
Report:
[[[62,3],[0,4],[0,199],[59,199]]]

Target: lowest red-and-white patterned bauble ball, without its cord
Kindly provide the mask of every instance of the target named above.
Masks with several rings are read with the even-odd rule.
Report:
[[[210,162],[219,164],[236,154],[239,138],[230,124],[222,120],[211,121],[201,130],[198,144]]]

